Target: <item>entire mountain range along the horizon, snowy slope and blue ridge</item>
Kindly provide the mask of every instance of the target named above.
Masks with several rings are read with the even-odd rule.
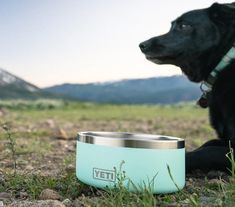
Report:
[[[0,99],[68,99],[114,104],[173,104],[196,100],[199,86],[184,76],[124,79],[39,88],[0,68]]]

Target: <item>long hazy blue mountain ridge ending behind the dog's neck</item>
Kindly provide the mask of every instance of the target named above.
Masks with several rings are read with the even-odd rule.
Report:
[[[171,104],[196,100],[201,95],[199,86],[191,83],[184,76],[63,84],[44,90],[81,101],[124,104]]]

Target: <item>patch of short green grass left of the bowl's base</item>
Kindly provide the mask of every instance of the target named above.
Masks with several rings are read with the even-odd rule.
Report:
[[[0,192],[8,191],[17,196],[19,192],[27,192],[30,199],[38,199],[43,189],[49,188],[60,192],[62,198],[75,199],[87,187],[77,182],[75,174],[60,177],[45,177],[28,174],[7,174]]]

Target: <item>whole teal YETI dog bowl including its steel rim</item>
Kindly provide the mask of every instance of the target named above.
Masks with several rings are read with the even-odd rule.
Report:
[[[184,140],[116,132],[80,132],[76,175],[86,184],[172,193],[185,185]]]

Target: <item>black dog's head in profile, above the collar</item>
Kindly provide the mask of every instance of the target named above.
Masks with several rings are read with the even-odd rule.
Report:
[[[140,43],[156,64],[179,66],[194,82],[205,80],[235,41],[235,4],[215,3],[174,20],[170,31]]]

